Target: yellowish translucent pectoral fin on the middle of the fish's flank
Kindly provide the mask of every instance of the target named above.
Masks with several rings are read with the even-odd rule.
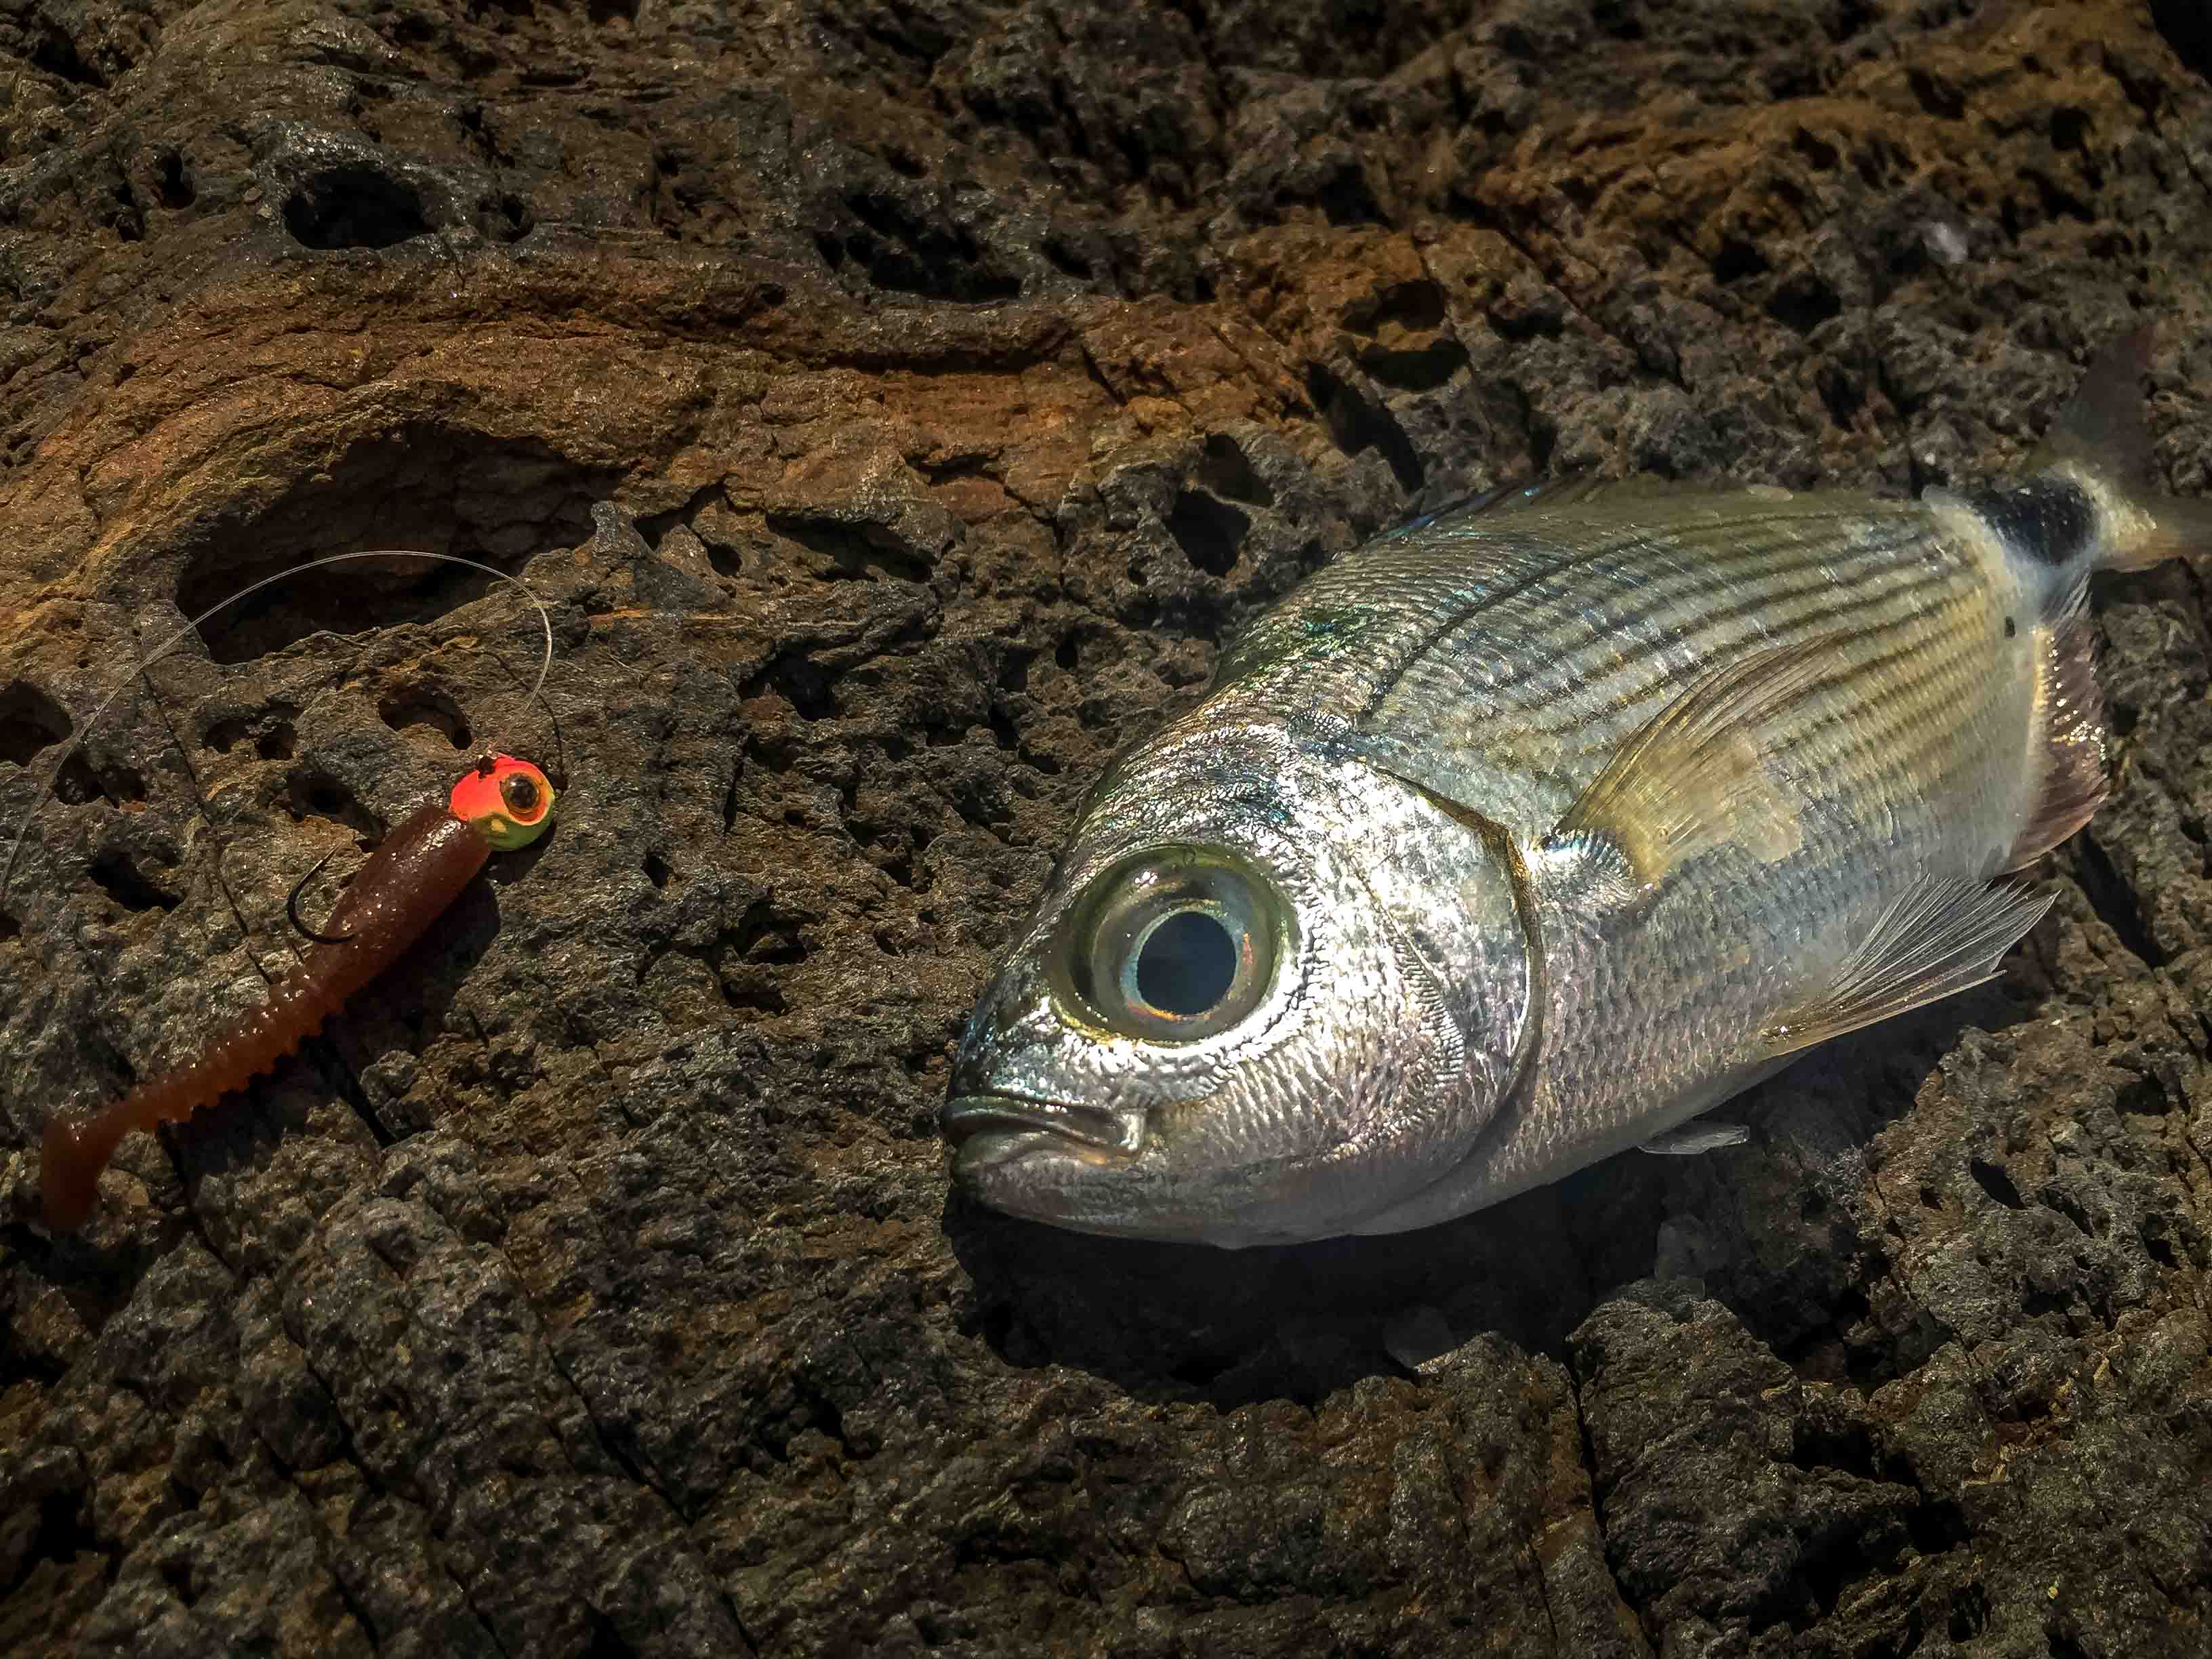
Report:
[[[1803,827],[1767,761],[1787,743],[1778,717],[1820,686],[1836,646],[1778,646],[1699,679],[1621,745],[1544,847],[1604,849],[1628,889],[1657,887],[1717,845],[1787,858]]]

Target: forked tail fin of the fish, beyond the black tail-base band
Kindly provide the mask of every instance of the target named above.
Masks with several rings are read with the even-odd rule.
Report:
[[[2128,330],[2090,358],[2073,403],[2028,462],[2088,487],[2106,509],[2095,557],[2099,571],[2146,571],[2183,553],[2212,551],[2212,502],[2157,489],[2143,376],[2150,325]]]

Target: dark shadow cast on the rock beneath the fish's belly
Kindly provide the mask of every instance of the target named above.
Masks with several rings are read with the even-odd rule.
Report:
[[[1064,1232],[958,1190],[945,1230],[1009,1365],[1073,1365],[1137,1398],[1316,1405],[1480,1332],[1564,1360],[1599,1303],[1655,1272],[1703,1276],[1747,1327],[1812,1352],[1865,1314],[1856,1285],[1882,1265],[1838,1197],[1867,1146],[1960,1031],[2024,1018],[1984,991],[1891,1022],[1723,1108],[1752,1124],[1745,1146],[1628,1152],[1420,1232],[1214,1250]]]

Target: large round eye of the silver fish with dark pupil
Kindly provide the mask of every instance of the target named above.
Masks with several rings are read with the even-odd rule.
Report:
[[[1068,989],[1146,1042],[1228,1031],[1274,982],[1287,916],[1261,872],[1212,847],[1155,847],[1091,883],[1062,945]]]

